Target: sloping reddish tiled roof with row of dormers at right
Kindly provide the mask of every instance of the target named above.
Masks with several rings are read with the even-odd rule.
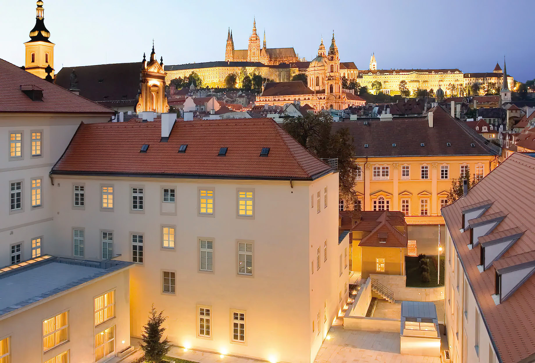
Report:
[[[499,305],[494,303],[494,268],[535,260],[535,158],[514,153],[482,181],[471,188],[467,196],[441,209],[446,225],[470,287],[476,297],[482,317],[503,363],[516,363],[535,354],[535,275],[529,277],[513,294]],[[488,190],[499,190],[488,193]],[[523,235],[489,267],[479,272],[480,249],[469,249],[470,231],[462,233],[463,206],[490,199],[493,203],[484,215],[507,214],[491,231],[498,234],[518,228]],[[507,233],[511,233],[508,231]],[[529,361],[529,360],[526,360]]]

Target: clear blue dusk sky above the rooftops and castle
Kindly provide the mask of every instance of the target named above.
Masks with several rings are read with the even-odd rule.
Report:
[[[313,59],[334,30],[341,61],[377,67],[492,72],[496,61],[518,81],[535,78],[535,0],[43,0],[44,23],[62,66],[141,61],[154,38],[164,64],[224,60],[227,30],[247,49],[256,18],[268,48],[294,47]],[[0,58],[24,65],[35,1],[0,0]],[[527,16],[527,18],[526,18]]]

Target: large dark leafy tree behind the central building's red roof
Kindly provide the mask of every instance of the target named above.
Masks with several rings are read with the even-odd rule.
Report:
[[[340,196],[354,202],[358,165],[353,159],[353,137],[347,128],[332,133],[332,123],[331,114],[321,112],[285,118],[283,127],[318,158],[338,158]]]

